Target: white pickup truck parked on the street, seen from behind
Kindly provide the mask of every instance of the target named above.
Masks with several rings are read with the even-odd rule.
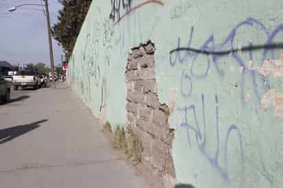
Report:
[[[36,89],[41,84],[41,81],[33,71],[20,71],[17,75],[12,76],[12,84],[15,90],[18,90],[19,86],[22,89],[26,87]]]

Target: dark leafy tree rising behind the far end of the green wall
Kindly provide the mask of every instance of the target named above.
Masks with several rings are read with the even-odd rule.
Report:
[[[59,10],[58,23],[52,27],[52,34],[62,45],[66,60],[69,60],[76,39],[80,33],[80,27],[84,22],[92,0],[60,0],[64,7]]]

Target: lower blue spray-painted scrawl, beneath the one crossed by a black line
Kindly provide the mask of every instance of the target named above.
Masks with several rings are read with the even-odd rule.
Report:
[[[229,180],[229,172],[228,172],[228,161],[227,161],[227,156],[228,156],[228,148],[229,147],[234,147],[234,150],[238,150],[240,154],[240,161],[238,164],[240,164],[242,168],[242,174],[244,173],[244,154],[242,150],[242,136],[240,133],[240,130],[238,126],[231,124],[229,128],[226,131],[226,134],[224,135],[225,137],[225,143],[223,151],[220,151],[220,137],[221,135],[219,134],[219,101],[218,101],[218,95],[215,95],[215,138],[216,138],[216,148],[214,148],[214,154],[210,155],[207,150],[207,126],[213,126],[213,124],[208,123],[211,122],[205,117],[205,95],[201,95],[201,110],[202,110],[202,119],[198,119],[198,115],[196,114],[196,105],[191,104],[190,106],[182,106],[178,107],[177,110],[181,114],[182,119],[184,119],[179,126],[185,127],[187,131],[187,138],[188,138],[188,144],[190,145],[190,148],[192,148],[192,139],[194,138],[196,143],[197,143],[197,148],[199,148],[199,151],[201,154],[205,156],[207,161],[216,168],[218,174],[223,178],[223,180],[228,181]],[[190,115],[190,119],[192,119],[193,123],[190,124],[188,122],[188,115]],[[207,121],[208,120],[208,121]],[[203,128],[200,128],[200,122],[203,124]],[[203,130],[203,132],[201,131]],[[230,143],[230,135],[231,134],[236,134],[237,145],[229,145]],[[224,154],[223,157],[219,157],[219,153],[222,152]],[[220,165],[219,158],[223,158],[223,164],[224,166]]]

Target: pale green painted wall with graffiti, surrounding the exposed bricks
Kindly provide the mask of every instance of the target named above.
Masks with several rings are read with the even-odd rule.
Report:
[[[68,75],[94,115],[126,124],[128,53],[148,39],[177,183],[282,187],[283,1],[93,1]]]

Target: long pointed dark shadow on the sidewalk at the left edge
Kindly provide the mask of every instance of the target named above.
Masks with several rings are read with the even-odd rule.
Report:
[[[31,124],[26,124],[23,126],[14,126],[12,128],[4,128],[0,130],[0,144],[11,141],[12,139],[19,137],[22,134],[25,134],[27,132],[34,130],[35,128],[40,127],[39,124],[42,124],[45,121],[48,121],[48,120],[43,119],[41,121],[32,122]]]

